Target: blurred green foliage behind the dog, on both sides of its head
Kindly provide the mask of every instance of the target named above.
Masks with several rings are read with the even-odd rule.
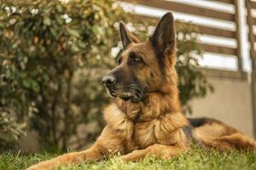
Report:
[[[114,0],[0,3],[0,150],[27,131],[41,150],[80,150],[101,132],[109,97],[102,76],[121,51],[118,21],[130,20]],[[128,23],[142,40],[150,22]],[[198,68],[194,26],[177,25],[177,72],[184,112],[212,86]]]

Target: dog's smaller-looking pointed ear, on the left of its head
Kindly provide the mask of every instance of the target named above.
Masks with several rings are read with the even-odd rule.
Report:
[[[131,44],[131,42],[135,42],[135,43],[139,42],[137,37],[135,37],[131,33],[131,31],[127,29],[123,21],[119,22],[119,31],[120,31],[120,37],[121,37],[121,41],[124,49],[127,48]]]

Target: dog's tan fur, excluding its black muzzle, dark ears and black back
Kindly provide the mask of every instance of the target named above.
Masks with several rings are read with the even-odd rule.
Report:
[[[123,61],[118,66],[129,76],[131,68],[128,58],[131,51],[143,58],[145,65],[138,66],[135,71],[137,78],[150,87],[143,100],[132,102],[115,99],[103,111],[106,127],[89,150],[58,156],[28,169],[46,170],[82,161],[96,161],[117,152],[124,161],[138,161],[147,155],[169,159],[183,150],[189,150],[191,139],[183,131],[183,127],[189,126],[189,121],[183,116],[178,99],[175,48],[165,51],[164,79],[153,48],[149,40],[132,42],[121,55]],[[195,127],[192,135],[206,149],[235,147],[238,150],[256,150],[253,139],[218,121],[208,121]]]

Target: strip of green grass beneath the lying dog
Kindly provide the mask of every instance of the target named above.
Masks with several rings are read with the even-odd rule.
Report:
[[[53,155],[29,155],[24,156],[19,153],[3,153],[0,155],[0,169],[21,170],[25,167],[44,161]],[[65,170],[243,170],[256,169],[256,153],[241,153],[238,151],[225,151],[219,153],[216,150],[204,151],[200,149],[184,152],[180,156],[173,157],[168,161],[157,160],[154,157],[146,157],[139,162],[122,162],[118,156],[110,157],[104,161],[84,162],[80,166],[70,166],[59,168]]]

